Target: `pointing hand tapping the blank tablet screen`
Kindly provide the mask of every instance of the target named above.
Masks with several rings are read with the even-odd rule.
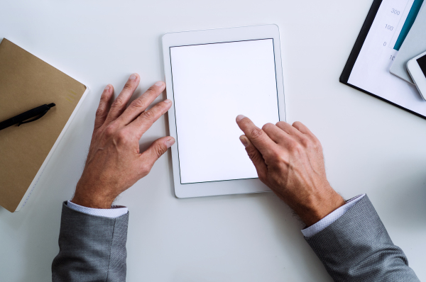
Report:
[[[305,125],[280,121],[260,129],[244,115],[237,116],[236,123],[259,179],[307,226],[344,205],[325,176],[321,143]]]

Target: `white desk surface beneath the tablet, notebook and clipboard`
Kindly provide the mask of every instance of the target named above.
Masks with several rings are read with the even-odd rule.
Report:
[[[280,27],[288,121],[320,138],[342,196],[368,193],[425,280],[426,120],[339,83],[371,2],[2,1],[0,38],[91,92],[23,210],[0,208],[0,281],[49,281],[62,201],[82,173],[106,84],[121,89],[138,72],[141,94],[163,79],[163,33],[264,23]],[[167,128],[160,118],[143,142]],[[179,200],[170,157],[119,198],[130,210],[127,281],[332,281],[302,224],[272,193]]]

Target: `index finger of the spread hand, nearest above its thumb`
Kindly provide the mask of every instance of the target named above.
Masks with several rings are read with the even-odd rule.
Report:
[[[129,124],[129,126],[133,128],[132,131],[141,138],[143,133],[151,128],[151,125],[153,125],[153,123],[155,123],[161,115],[164,115],[171,106],[172,101],[169,99],[161,101],[160,103],[155,104],[155,106],[150,108],[148,111],[141,113],[136,120],[133,120],[133,122]]]

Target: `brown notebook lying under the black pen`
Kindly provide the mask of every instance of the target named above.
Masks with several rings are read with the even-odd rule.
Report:
[[[25,205],[87,87],[4,38],[0,43],[0,122],[55,103],[39,120],[0,130],[0,205]]]

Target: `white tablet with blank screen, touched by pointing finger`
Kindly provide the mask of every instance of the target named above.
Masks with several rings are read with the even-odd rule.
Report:
[[[285,120],[278,26],[163,35],[173,182],[178,198],[269,191],[241,145],[235,118]]]

